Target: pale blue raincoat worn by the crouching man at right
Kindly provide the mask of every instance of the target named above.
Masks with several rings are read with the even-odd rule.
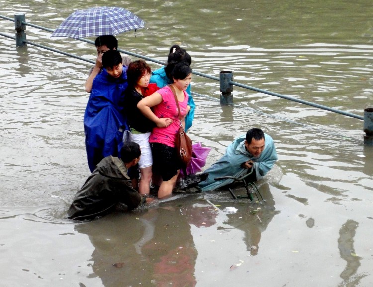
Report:
[[[225,154],[204,172],[208,173],[205,181],[200,182],[198,186],[202,191],[212,191],[222,186],[233,183],[233,179],[215,181],[217,177],[232,176],[239,178],[248,172],[248,169],[242,168],[241,164],[248,161],[254,161],[254,170],[257,180],[261,179],[272,169],[277,160],[277,153],[273,139],[264,134],[265,147],[260,156],[252,156],[245,148],[246,134],[236,138],[228,147]]]

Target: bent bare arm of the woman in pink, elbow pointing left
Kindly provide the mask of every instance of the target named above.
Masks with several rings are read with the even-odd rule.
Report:
[[[158,118],[152,111],[152,107],[162,103],[162,95],[158,92],[153,93],[139,101],[137,108],[151,121],[153,121],[157,127],[168,127],[172,123],[172,119],[169,117]]]

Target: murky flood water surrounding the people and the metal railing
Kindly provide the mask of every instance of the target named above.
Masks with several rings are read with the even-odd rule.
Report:
[[[55,29],[92,6],[147,22],[136,37],[117,36],[133,53],[164,61],[178,43],[197,72],[230,70],[236,82],[359,116],[373,105],[371,0],[0,0],[0,14]],[[0,19],[0,31],[13,36],[14,23]],[[26,31],[28,41],[95,59],[93,45]],[[258,182],[265,202],[177,193],[73,222],[66,211],[90,174],[92,65],[3,36],[0,46],[1,286],[373,285],[373,146],[362,120],[238,87],[234,106],[221,106],[219,83],[194,75],[192,91],[205,96],[194,96],[189,135],[212,148],[206,166],[250,127],[273,137],[279,160]]]

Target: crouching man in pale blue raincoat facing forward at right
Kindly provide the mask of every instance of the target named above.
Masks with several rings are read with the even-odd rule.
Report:
[[[204,172],[205,181],[198,184],[202,191],[211,191],[233,183],[233,179],[215,181],[217,177],[242,177],[254,166],[248,182],[261,179],[277,161],[277,153],[272,138],[259,128],[248,130],[246,135],[236,138],[225,154]]]

